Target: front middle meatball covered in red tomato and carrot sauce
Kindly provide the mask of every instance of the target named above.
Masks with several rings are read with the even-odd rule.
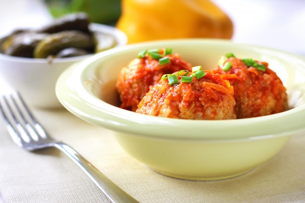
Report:
[[[142,98],[136,112],[160,117],[223,120],[235,119],[233,88],[219,74],[205,71],[206,75],[191,83],[170,85],[161,79]],[[177,74],[177,73],[174,73]]]

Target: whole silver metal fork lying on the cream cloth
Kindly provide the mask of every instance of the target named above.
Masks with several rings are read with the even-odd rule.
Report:
[[[138,203],[77,153],[76,150],[50,137],[30,112],[19,92],[11,91],[1,94],[0,109],[9,134],[19,147],[29,151],[50,147],[58,148],[89,176],[111,202]]]

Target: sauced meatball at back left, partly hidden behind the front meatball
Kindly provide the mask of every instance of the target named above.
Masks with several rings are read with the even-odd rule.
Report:
[[[165,55],[165,49],[158,49],[158,54]],[[120,96],[120,108],[135,111],[142,97],[149,91],[149,87],[157,83],[163,74],[186,69],[191,71],[191,65],[182,60],[178,54],[166,55],[169,62],[160,64],[150,54],[133,59],[124,67],[117,79],[116,90]]]

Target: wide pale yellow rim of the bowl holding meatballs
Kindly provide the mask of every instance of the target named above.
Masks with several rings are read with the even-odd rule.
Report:
[[[162,44],[162,46],[170,46],[171,43],[179,42],[188,44],[191,41],[193,43],[201,44],[233,44],[238,47],[247,46],[249,49],[259,48],[261,50],[282,53],[300,60],[305,67],[305,58],[303,56],[259,45],[237,43],[226,39],[193,38],[156,40],[129,44],[107,50],[71,66],[61,74],[57,80],[57,98],[68,111],[89,123],[118,132],[156,138],[205,141],[228,141],[237,139],[259,140],[287,136],[305,129],[305,125],[303,124],[305,118],[305,105],[281,113],[254,118],[217,121],[173,119],[144,115],[120,109],[119,107],[115,107],[95,97],[92,92],[88,92],[90,88],[85,87],[82,83],[82,78],[84,77],[83,73],[89,69],[94,71],[97,66],[92,66],[92,64],[98,63],[104,56],[113,55],[116,52],[139,49],[140,47],[152,44],[158,47],[160,44]],[[83,103],[87,103],[87,105],[83,106]],[[289,123],[289,125],[286,125],[287,123]],[[131,126],[133,126],[133,128],[130,128]],[[260,128],[257,128],[257,126]],[[165,127],[174,127],[175,130],[167,130]],[[190,131],[190,129],[196,130]],[[225,135],[224,130],[226,131]],[[189,133],[186,133],[187,131],[189,131]]]

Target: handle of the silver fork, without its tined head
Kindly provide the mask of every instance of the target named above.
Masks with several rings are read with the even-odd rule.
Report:
[[[64,143],[56,143],[55,146],[68,157],[70,157],[77,166],[79,166],[87,176],[100,188],[112,203],[139,203],[124,190],[115,185],[109,178],[101,173],[95,166],[82,157],[76,150]]]

